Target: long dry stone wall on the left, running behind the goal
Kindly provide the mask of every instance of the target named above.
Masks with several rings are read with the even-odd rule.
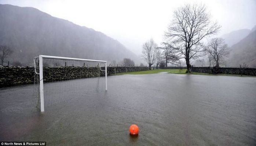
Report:
[[[147,70],[147,67],[107,67],[107,75],[124,72]],[[105,68],[102,68],[105,70]],[[105,72],[96,67],[44,67],[44,81],[62,81],[77,78],[105,76]],[[34,67],[32,66],[0,66],[0,88],[13,85],[33,84]]]

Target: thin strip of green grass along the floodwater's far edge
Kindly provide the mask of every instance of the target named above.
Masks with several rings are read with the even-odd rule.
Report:
[[[122,75],[122,74],[154,74],[154,73],[160,73],[160,72],[168,72],[173,74],[188,74],[188,75],[203,75],[203,76],[236,76],[241,77],[240,74],[209,74],[209,73],[186,73],[186,69],[179,70],[179,69],[153,69],[153,70],[145,70],[145,71],[139,71],[139,72],[127,72],[127,73],[117,73],[116,75]],[[243,77],[256,77],[256,76],[246,76],[243,75]]]

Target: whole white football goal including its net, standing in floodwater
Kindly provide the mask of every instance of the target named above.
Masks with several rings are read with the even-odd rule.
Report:
[[[37,107],[44,108],[107,90],[107,62],[39,55],[34,58]]]

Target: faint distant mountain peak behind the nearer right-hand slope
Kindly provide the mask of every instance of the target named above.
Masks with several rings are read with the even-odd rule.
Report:
[[[225,42],[229,47],[233,46],[234,44],[241,41],[243,38],[245,38],[250,33],[249,29],[241,29],[232,31],[228,34],[222,35],[222,38],[225,39]]]

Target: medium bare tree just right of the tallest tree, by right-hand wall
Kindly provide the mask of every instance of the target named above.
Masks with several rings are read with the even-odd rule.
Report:
[[[206,50],[216,62],[216,67],[219,67],[220,59],[229,53],[228,46],[223,38],[211,39]]]

